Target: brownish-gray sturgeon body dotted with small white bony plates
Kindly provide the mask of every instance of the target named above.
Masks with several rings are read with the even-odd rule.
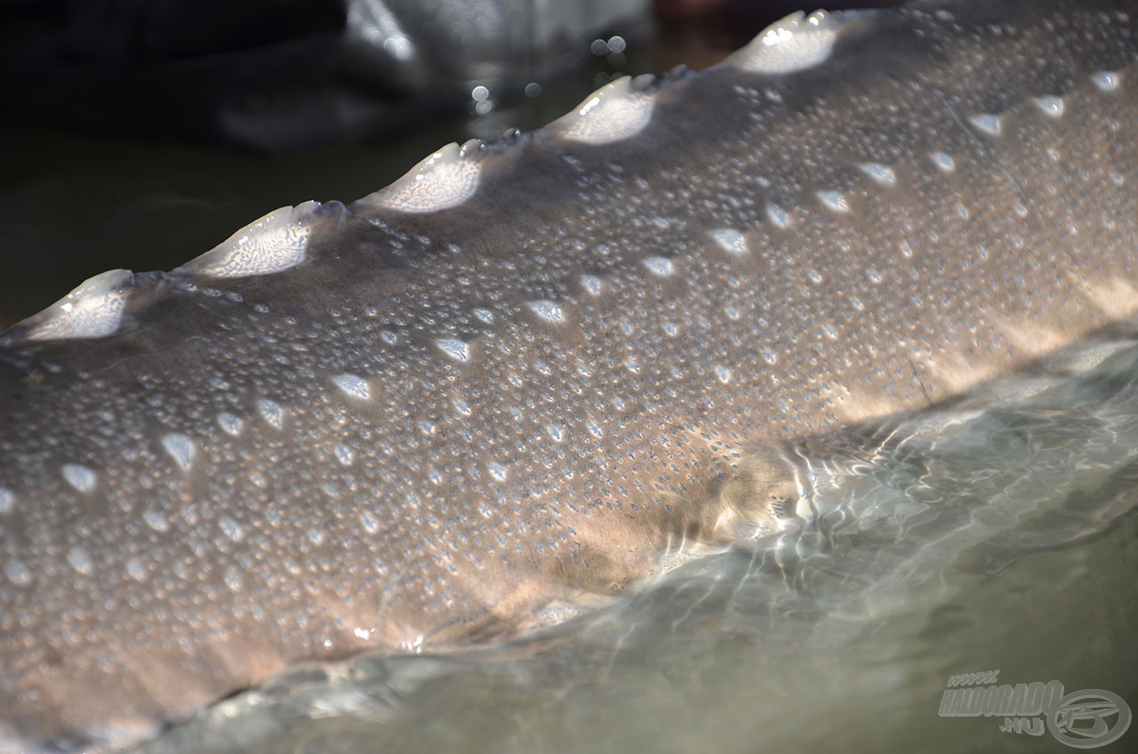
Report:
[[[470,145],[423,183],[454,206],[310,205],[288,269],[121,273],[114,331],[9,330],[0,748],[618,593],[777,527],[784,443],[1132,313],[1136,10],[849,16],[773,52],[813,63],[611,97],[601,144]]]

